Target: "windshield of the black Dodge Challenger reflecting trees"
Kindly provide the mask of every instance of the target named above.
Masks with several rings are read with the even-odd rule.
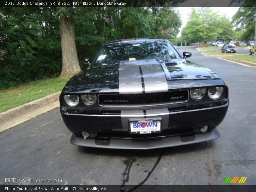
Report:
[[[144,59],[172,60],[178,58],[180,58],[180,55],[169,42],[143,40],[106,44],[96,56],[95,63]]]

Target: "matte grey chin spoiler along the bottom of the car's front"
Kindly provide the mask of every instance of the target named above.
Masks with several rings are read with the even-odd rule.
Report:
[[[199,143],[207,140],[213,140],[220,137],[217,129],[206,133],[196,133],[189,136],[174,136],[164,138],[148,139],[83,139],[72,135],[70,142],[74,145],[94,148],[113,148],[113,149],[155,149]]]

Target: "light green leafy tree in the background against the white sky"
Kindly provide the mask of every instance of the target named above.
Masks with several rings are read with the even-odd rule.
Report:
[[[187,42],[215,40],[230,41],[233,35],[232,23],[226,16],[220,16],[209,7],[195,8],[189,15],[189,21],[183,28],[182,39]]]

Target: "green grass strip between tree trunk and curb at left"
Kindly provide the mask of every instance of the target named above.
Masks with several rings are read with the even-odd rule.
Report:
[[[0,112],[58,92],[68,80],[69,78],[49,78],[1,90]]]

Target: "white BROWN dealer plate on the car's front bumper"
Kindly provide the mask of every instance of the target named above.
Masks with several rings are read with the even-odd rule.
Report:
[[[150,134],[162,131],[162,119],[129,119],[131,134]]]

